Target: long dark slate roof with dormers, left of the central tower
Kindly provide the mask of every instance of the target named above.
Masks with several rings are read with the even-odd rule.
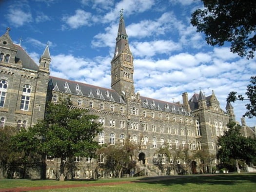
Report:
[[[106,101],[113,101],[116,103],[125,103],[115,90],[59,77],[49,77],[48,89],[77,96],[86,96]]]

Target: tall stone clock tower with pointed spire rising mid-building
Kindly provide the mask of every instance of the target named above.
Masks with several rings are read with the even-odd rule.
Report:
[[[116,49],[111,61],[111,88],[116,90],[124,100],[135,97],[133,56],[129,48],[123,12],[120,11]]]

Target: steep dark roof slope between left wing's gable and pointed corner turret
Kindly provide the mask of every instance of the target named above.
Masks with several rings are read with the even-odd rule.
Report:
[[[39,66],[37,63],[29,57],[26,51],[18,44],[14,44],[15,48],[17,49],[17,53],[15,56],[15,62],[22,61],[22,68],[29,69],[33,71],[38,71]]]

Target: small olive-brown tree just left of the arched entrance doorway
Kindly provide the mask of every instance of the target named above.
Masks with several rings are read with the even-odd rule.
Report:
[[[124,145],[109,145],[99,151],[104,156],[107,169],[118,173],[118,178],[121,178],[123,170],[130,171],[135,168],[134,157],[136,152],[138,152],[138,146],[128,139],[125,140]]]

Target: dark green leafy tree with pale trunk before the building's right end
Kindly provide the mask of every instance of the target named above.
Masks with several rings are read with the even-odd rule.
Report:
[[[221,162],[229,162],[231,159],[236,161],[237,173],[240,173],[238,165],[239,160],[244,160],[247,163],[251,162],[256,157],[256,141],[251,138],[246,138],[240,134],[240,125],[230,121],[227,124],[228,131],[218,138],[217,158]]]

